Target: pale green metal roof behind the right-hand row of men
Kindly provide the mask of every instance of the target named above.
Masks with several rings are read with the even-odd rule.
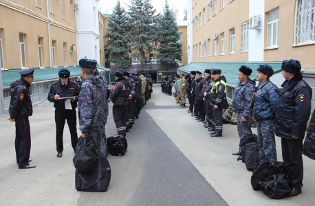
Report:
[[[229,84],[237,84],[239,78],[239,67],[246,65],[252,69],[251,80],[256,80],[257,67],[259,65],[270,65],[274,69],[274,74],[281,72],[281,61],[265,61],[265,62],[191,62],[188,65],[184,65],[177,70],[190,73],[191,71],[201,71],[204,73],[205,69],[221,69],[221,75],[226,77],[226,82]]]

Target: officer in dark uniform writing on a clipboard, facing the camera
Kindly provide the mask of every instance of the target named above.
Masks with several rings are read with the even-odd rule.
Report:
[[[57,157],[63,156],[63,128],[65,127],[65,120],[69,126],[72,148],[76,149],[78,142],[78,134],[76,133],[76,107],[78,102],[78,95],[80,87],[76,82],[70,81],[69,69],[59,69],[59,80],[54,82],[50,87],[47,100],[54,102],[55,122],[56,122],[56,150]],[[60,99],[69,98],[69,99]],[[69,104],[69,108],[65,105]]]

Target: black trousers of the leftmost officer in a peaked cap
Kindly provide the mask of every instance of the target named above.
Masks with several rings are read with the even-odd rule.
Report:
[[[31,132],[28,117],[15,118],[15,154],[20,168],[29,165],[30,151]]]

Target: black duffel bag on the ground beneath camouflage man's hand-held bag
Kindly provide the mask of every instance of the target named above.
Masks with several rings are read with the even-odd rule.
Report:
[[[86,172],[76,169],[76,190],[105,192],[111,181],[111,166],[102,152],[96,152],[94,167]]]

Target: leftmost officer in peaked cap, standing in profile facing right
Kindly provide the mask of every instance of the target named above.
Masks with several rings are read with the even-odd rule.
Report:
[[[15,153],[19,169],[35,168],[30,165],[31,132],[28,117],[33,114],[30,86],[34,81],[34,68],[20,71],[21,79],[11,84],[8,121],[15,122]]]

